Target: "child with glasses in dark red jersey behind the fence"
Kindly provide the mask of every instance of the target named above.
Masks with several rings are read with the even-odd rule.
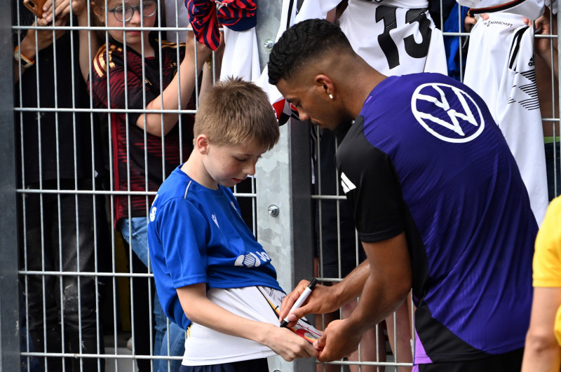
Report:
[[[187,35],[185,43],[170,43],[151,32],[156,23],[156,1],[94,0],[93,11],[100,26],[107,27],[93,59],[89,80],[90,95],[107,125],[111,146],[109,162],[114,190],[130,192],[114,196],[114,223],[135,253],[131,256],[133,273],[147,273],[147,210],[163,179],[178,164],[184,163],[193,149],[192,114],[177,110],[195,109],[194,71],[201,71],[211,50]],[[197,53],[195,55],[195,52]],[[205,69],[206,70],[206,69]],[[126,110],[126,111],[125,111]],[[144,266],[142,266],[142,263]],[[148,293],[146,277],[133,279],[133,287]],[[138,294],[138,292],[135,292]],[[154,294],[154,291],[152,292]],[[150,354],[147,295],[134,296],[135,354]],[[168,346],[167,318],[154,296],[156,332],[154,354]],[[170,324],[170,351],[182,355],[184,331]],[[175,352],[171,352],[175,354]],[[168,361],[154,359],[154,371],[161,364],[168,371]],[[150,371],[149,359],[137,359],[140,371]],[[173,365],[173,364],[172,364]]]

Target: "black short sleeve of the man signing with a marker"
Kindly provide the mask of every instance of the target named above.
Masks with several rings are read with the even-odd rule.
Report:
[[[404,228],[403,198],[391,158],[372,146],[359,116],[337,151],[337,169],[363,242],[379,242]]]

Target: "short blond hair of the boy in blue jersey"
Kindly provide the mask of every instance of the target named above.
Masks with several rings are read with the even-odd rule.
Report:
[[[264,90],[241,78],[219,81],[201,97],[194,137],[217,145],[255,144],[270,150],[280,133]]]

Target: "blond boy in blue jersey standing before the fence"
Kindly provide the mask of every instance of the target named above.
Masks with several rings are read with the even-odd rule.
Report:
[[[255,174],[278,141],[265,92],[241,78],[212,86],[195,118],[194,150],[161,185],[148,240],[165,313],[188,327],[180,371],[269,371],[266,357],[315,357],[278,326],[285,296],[264,247],[241,218],[231,187]],[[271,302],[270,302],[271,301]]]

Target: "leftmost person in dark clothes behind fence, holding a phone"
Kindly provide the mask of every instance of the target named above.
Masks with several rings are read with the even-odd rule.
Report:
[[[24,27],[14,33],[13,50],[14,99],[26,109],[15,113],[18,188],[25,189],[18,200],[20,264],[50,272],[22,275],[22,351],[50,353],[22,357],[22,371],[104,371],[99,357],[57,355],[104,352],[97,314],[102,286],[95,276],[76,275],[101,268],[96,249],[98,257],[107,249],[102,198],[91,195],[103,173],[99,123],[88,112],[72,112],[90,108],[83,74],[89,53],[79,31],[53,31],[71,20],[88,26],[86,1],[47,1],[39,18],[18,1],[11,8],[13,24]],[[35,26],[46,28],[27,29]]]

